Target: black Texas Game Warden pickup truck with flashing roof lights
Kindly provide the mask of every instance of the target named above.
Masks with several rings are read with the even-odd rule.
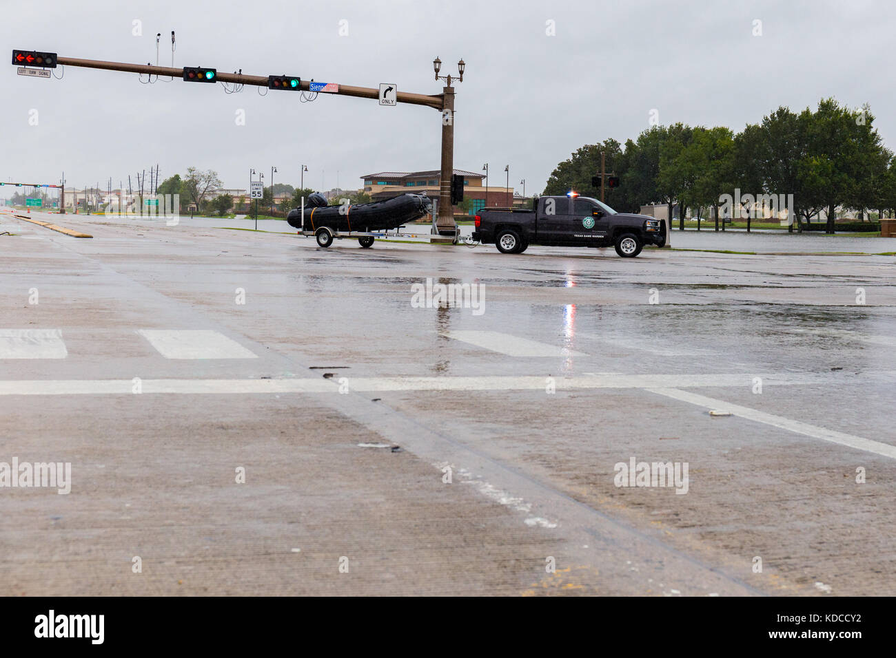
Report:
[[[580,196],[543,196],[534,210],[480,209],[473,240],[502,253],[522,253],[530,244],[569,247],[615,246],[623,258],[641,253],[645,244],[666,244],[662,221],[629,215]]]

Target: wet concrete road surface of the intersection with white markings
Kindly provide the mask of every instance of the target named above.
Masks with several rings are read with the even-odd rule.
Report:
[[[72,492],[0,489],[2,594],[896,592],[892,256],[35,218],[94,238],[0,216],[0,462]]]

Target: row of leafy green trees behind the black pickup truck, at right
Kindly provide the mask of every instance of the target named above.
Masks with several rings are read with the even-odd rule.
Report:
[[[605,190],[610,206],[638,212],[643,204],[667,204],[671,219],[677,204],[682,229],[686,209],[708,208],[718,228],[722,199],[735,189],[754,196],[792,194],[798,231],[821,211],[827,213],[826,232],[833,233],[837,208],[856,210],[861,218],[866,209],[877,209],[879,217],[889,210],[892,217],[896,208],[896,160],[883,146],[870,108],[853,110],[833,98],[798,114],[779,107],[737,134],[679,123],[652,126],[625,144],[586,144],[557,165],[544,193],[575,190],[599,198],[591,177],[600,173],[601,151],[607,174],[620,178],[619,187]]]

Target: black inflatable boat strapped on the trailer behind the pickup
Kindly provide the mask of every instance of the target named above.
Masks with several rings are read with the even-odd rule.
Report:
[[[426,216],[432,210],[432,201],[421,194],[401,194],[401,196],[359,203],[357,206],[323,206],[305,209],[306,231],[316,231],[326,226],[333,231],[382,231],[398,228]],[[287,215],[289,226],[303,229],[302,211],[294,209]]]

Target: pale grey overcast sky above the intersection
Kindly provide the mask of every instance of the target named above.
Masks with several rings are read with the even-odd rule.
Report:
[[[511,184],[521,191],[525,178],[527,194],[583,144],[637,136],[652,109],[661,124],[738,132],[780,105],[799,110],[833,96],[850,107],[870,103],[884,143],[896,148],[896,4],[883,0],[0,2],[6,57],[32,48],[154,64],[161,32],[159,63],[170,65],[176,30],[177,67],[393,82],[428,94],[442,90],[435,56],[452,74],[462,57],[454,167],[479,171],[487,162],[489,183],[504,184],[509,164]],[[762,36],[754,36],[757,20]],[[297,93],[259,91],[141,84],[132,73],[71,66],[63,80],[34,80],[7,64],[0,179],[56,183],[65,171],[69,185],[105,188],[111,176],[117,187],[158,163],[163,179],[192,165],[246,188],[250,167],[267,172],[265,184],[274,166],[275,183],[298,185],[305,164],[306,187],[330,189],[338,175],[340,187],[357,189],[367,173],[439,168],[434,109],[325,94],[299,103]]]

